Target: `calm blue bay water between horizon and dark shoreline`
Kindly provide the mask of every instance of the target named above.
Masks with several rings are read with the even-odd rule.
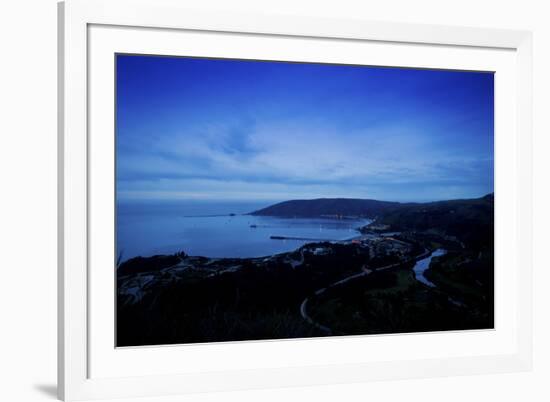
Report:
[[[122,253],[122,260],[177,251],[205,257],[262,257],[307,243],[270,239],[272,235],[344,240],[358,235],[355,229],[369,222],[241,215],[270,204],[119,202],[117,252]]]

